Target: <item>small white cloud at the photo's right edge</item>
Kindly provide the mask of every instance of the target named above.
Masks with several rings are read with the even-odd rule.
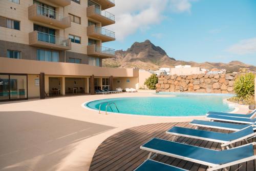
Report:
[[[227,49],[227,51],[234,54],[249,54],[256,53],[256,37],[251,39],[245,39],[237,44],[232,45]]]

